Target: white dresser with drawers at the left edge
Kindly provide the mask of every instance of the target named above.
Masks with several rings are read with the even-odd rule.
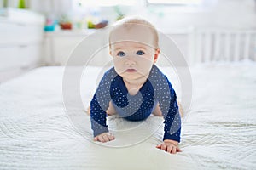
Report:
[[[44,16],[7,8],[0,17],[0,82],[42,65]]]

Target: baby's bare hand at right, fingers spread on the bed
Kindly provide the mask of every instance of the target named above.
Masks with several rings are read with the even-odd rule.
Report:
[[[176,154],[176,152],[182,151],[178,148],[177,141],[169,139],[164,140],[164,143],[157,145],[156,148],[160,150],[166,150],[166,152],[169,152],[171,154]]]

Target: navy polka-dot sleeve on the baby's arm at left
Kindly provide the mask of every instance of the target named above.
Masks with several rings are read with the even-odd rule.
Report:
[[[108,132],[106,111],[111,100],[111,82],[115,76],[116,73],[113,69],[107,71],[102,77],[93,99],[90,101],[90,123],[94,136]]]

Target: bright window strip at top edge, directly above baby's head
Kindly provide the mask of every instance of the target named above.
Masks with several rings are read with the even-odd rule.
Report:
[[[79,0],[82,6],[135,5],[136,0]]]

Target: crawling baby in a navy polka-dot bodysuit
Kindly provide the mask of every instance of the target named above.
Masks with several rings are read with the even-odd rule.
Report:
[[[160,54],[158,42],[158,32],[147,20],[125,18],[113,26],[109,33],[113,68],[105,72],[90,101],[95,141],[114,139],[106,124],[108,115],[142,121],[153,113],[165,119],[163,143],[156,148],[172,154],[181,151],[177,97],[171,82],[154,65]]]

